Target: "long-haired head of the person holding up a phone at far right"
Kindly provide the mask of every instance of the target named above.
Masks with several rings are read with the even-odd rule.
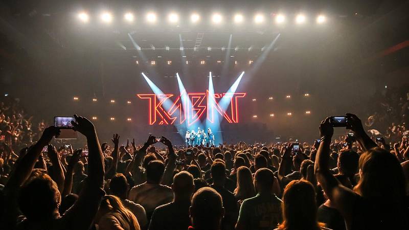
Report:
[[[361,179],[354,190],[362,197],[401,202],[405,196],[405,177],[399,160],[379,147],[359,158]]]

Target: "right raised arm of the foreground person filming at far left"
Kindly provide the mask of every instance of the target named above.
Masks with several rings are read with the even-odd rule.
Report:
[[[98,212],[99,204],[105,195],[104,162],[97,132],[93,123],[74,115],[74,130],[82,133],[88,145],[88,177],[77,202],[62,216],[67,229],[88,229]]]

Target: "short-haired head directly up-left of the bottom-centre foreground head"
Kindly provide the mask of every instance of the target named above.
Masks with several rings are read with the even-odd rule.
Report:
[[[190,201],[195,191],[193,176],[187,171],[181,171],[173,177],[172,191],[176,199],[187,199]]]

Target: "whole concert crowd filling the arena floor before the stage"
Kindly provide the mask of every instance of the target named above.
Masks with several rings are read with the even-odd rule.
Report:
[[[60,130],[33,128],[18,101],[0,105],[0,229],[409,227],[404,122],[399,139],[375,139],[347,114],[345,137],[333,138],[327,118],[311,143],[216,147],[119,134],[101,144],[94,124],[75,116],[87,143],[73,149],[51,145]]]

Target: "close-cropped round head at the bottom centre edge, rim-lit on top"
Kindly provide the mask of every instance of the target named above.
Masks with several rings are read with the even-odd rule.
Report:
[[[193,194],[189,214],[195,229],[220,229],[221,218],[224,216],[220,194],[210,187],[197,190]]]

